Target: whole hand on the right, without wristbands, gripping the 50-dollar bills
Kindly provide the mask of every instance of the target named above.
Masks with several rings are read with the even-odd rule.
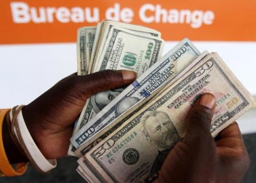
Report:
[[[167,156],[158,182],[240,182],[250,159],[236,122],[217,138],[210,134],[215,99],[204,94],[194,104],[187,120],[187,134]]]

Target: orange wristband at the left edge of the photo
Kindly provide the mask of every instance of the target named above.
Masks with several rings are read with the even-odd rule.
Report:
[[[10,111],[10,109],[0,109],[0,177],[2,176],[21,176],[26,172],[28,163],[18,163],[15,168],[10,164],[7,155],[4,150],[3,143],[3,122],[5,115]]]

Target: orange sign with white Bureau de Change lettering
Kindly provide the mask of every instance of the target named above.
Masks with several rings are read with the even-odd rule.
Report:
[[[76,30],[104,19],[140,24],[165,40],[256,41],[256,1],[3,1],[0,44],[76,41]]]

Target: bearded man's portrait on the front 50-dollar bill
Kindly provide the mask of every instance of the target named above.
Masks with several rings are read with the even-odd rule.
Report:
[[[158,149],[158,155],[150,171],[150,176],[153,176],[161,169],[167,155],[180,140],[180,136],[169,115],[164,111],[147,111],[140,121],[142,132],[148,142]]]

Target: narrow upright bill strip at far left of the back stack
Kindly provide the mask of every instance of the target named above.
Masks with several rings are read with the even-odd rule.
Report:
[[[95,31],[96,27],[82,27],[77,30],[77,75],[89,72]]]

